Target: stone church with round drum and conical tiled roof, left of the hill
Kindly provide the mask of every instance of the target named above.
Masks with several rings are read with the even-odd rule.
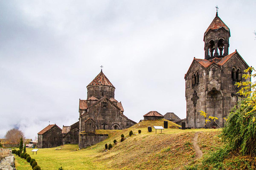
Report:
[[[121,102],[115,99],[115,87],[101,72],[87,86],[87,100],[79,99],[79,148],[105,140],[107,134],[95,130],[126,129],[136,124],[124,115]]]

